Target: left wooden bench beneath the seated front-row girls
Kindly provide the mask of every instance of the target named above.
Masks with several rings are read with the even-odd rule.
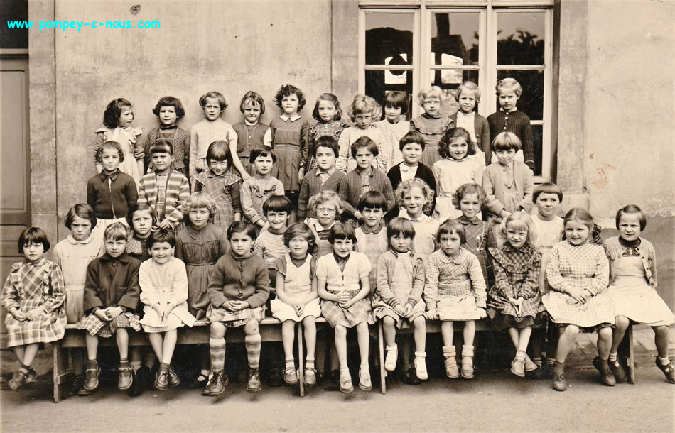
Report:
[[[320,317],[316,319],[320,326],[325,323],[325,319]],[[298,323],[297,336],[298,342],[303,341],[302,323]],[[260,337],[262,341],[281,341],[281,322],[273,317],[266,317],[259,324]],[[65,336],[60,341],[52,344],[53,363],[54,363],[54,402],[68,398],[68,385],[72,383],[72,371],[69,371],[68,349],[85,348],[85,331],[77,329],[75,324],[68,324],[65,329]],[[193,327],[182,327],[178,329],[178,341],[176,344],[209,344],[210,327],[209,323],[203,320],[195,322]],[[228,343],[244,342],[244,327],[238,327],[227,330]],[[116,346],[115,339],[99,339],[99,347]],[[150,346],[148,334],[145,332],[130,332],[129,346]],[[304,374],[304,356],[303,345],[298,344],[298,393],[301,397],[305,395],[305,385],[303,383]]]

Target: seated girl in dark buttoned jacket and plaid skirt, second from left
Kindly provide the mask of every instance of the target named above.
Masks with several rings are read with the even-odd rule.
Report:
[[[96,361],[100,338],[115,336],[119,349],[119,381],[117,388],[126,390],[133,381],[129,367],[129,333],[141,330],[139,315],[139,266],[141,262],[126,253],[129,227],[113,223],[103,234],[105,254],[92,260],[87,267],[85,283],[85,317],[77,322],[86,329],[87,369],[85,390],[98,388],[101,368]]]

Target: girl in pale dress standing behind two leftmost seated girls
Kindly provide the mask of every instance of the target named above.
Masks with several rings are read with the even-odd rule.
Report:
[[[102,236],[92,235],[96,222],[96,215],[89,204],[75,204],[65,217],[65,226],[70,230],[68,239],[63,239],[54,247],[54,261],[63,273],[68,323],[77,323],[85,314],[83,302],[87,265],[104,252]],[[68,393],[87,395],[82,389],[85,383],[85,352],[73,348],[71,354],[75,380]]]

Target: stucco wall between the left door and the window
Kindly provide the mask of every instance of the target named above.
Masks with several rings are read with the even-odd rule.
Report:
[[[161,29],[84,28],[55,33],[56,149],[58,213],[86,199],[87,178],[95,174],[94,131],[102,126],[106,104],[125,97],[134,104],[135,126],[156,127],[151,109],[167,94],[181,99],[189,130],[202,119],[199,97],[217,90],[229,108],[223,119],[241,119],[239,101],[249,89],[262,94],[267,112],[279,112],[274,94],[295,84],[308,100],[331,89],[331,3],[312,1],[156,1],[55,2],[55,19],[133,23],[161,22]],[[85,7],[86,6],[86,7]],[[53,188],[44,185],[43,188]],[[43,191],[45,194],[48,191]],[[39,194],[38,194],[39,195]],[[65,228],[59,228],[59,237]]]

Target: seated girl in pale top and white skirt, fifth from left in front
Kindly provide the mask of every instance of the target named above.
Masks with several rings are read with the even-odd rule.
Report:
[[[296,222],[284,233],[284,244],[290,252],[276,261],[276,299],[271,300],[272,316],[283,323],[281,336],[286,356],[284,381],[291,385],[298,382],[293,360],[293,339],[296,322],[302,322],[307,349],[303,382],[313,386],[316,383],[315,320],[321,315],[317,280],[314,278],[316,259],[308,253],[314,249],[314,236],[306,224]],[[302,341],[298,341],[298,344],[302,344]]]

